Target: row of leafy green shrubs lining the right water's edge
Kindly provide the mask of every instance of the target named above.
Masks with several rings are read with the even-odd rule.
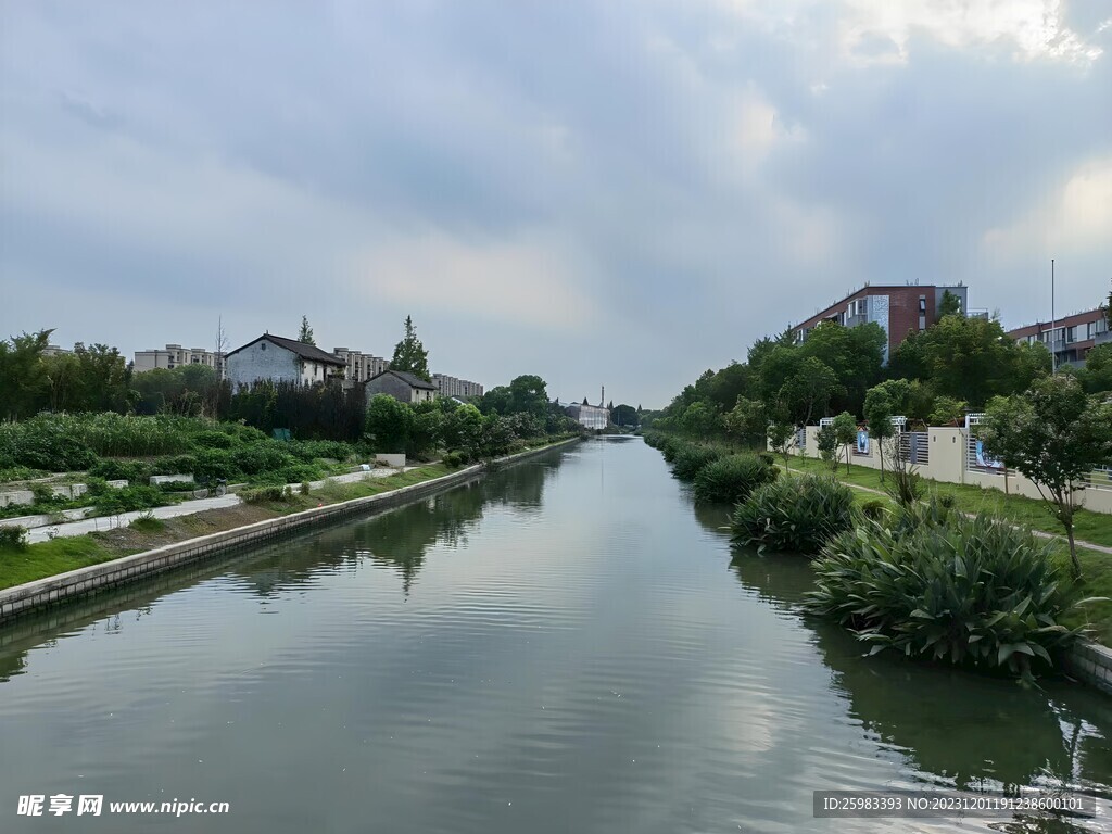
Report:
[[[682,480],[697,484],[731,459],[655,431],[645,439]],[[737,473],[743,460],[773,466],[767,453],[733,458]],[[1085,639],[1093,605],[1108,600],[1092,598],[1088,578],[1068,577],[1060,540],[1040,542],[984,512],[969,516],[953,495],[923,502],[923,480],[907,467],[890,473],[886,486],[890,500],[858,505],[828,471],[772,477],[735,504],[733,540],[811,559],[817,582],[805,607],[872,654],[1004,671],[1025,684],[1056,665],[1112,693],[1112,652]],[[696,489],[695,498],[716,494]]]

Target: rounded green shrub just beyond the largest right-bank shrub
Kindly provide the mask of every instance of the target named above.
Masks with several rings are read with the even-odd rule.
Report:
[[[738,504],[733,540],[758,549],[815,554],[854,524],[853,493],[831,477],[780,478]]]

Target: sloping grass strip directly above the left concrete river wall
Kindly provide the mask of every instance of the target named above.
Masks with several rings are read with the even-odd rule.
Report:
[[[59,537],[21,548],[0,547],[0,588],[22,585],[121,556],[277,518],[311,507],[388,493],[438,478],[449,471],[451,470],[448,467],[434,464],[387,478],[368,478],[350,484],[329,483],[311,490],[308,495],[295,490],[292,495],[280,499],[264,499],[177,518],[139,518],[131,525],[117,529],[85,536]]]

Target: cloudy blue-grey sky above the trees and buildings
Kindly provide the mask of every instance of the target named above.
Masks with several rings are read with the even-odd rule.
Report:
[[[662,406],[860,286],[1112,279],[1108,0],[0,2],[0,338]]]

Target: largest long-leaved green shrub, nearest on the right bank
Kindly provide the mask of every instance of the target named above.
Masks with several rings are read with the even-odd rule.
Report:
[[[893,648],[1024,681],[1080,633],[1062,615],[1089,600],[1059,589],[1052,543],[983,514],[906,520],[834,537],[815,559],[808,607],[852,628],[872,654]]]

